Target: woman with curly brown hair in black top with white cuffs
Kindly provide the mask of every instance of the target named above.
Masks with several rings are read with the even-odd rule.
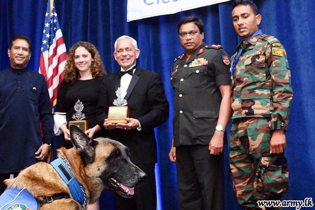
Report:
[[[63,133],[61,146],[72,147],[68,123],[73,120],[86,120],[88,129],[85,133],[90,137],[102,136],[98,132],[101,128],[96,121],[96,105],[105,74],[101,57],[93,44],[78,42],[70,48],[54,113],[55,134]]]

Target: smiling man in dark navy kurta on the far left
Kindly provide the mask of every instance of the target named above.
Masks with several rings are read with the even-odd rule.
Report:
[[[13,37],[8,56],[11,66],[0,71],[0,194],[5,189],[2,181],[45,160],[53,141],[47,82],[26,67],[31,40],[24,35]]]

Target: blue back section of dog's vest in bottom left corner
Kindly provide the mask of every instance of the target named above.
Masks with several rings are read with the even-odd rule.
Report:
[[[0,210],[39,210],[39,205],[25,188],[7,188],[0,195]]]

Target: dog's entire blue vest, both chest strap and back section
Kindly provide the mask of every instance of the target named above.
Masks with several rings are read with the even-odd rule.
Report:
[[[77,201],[83,209],[86,209],[84,191],[63,159],[58,158],[50,162],[50,164],[67,184],[73,199]],[[0,210],[39,210],[39,207],[38,200],[25,188],[22,190],[7,188],[4,193],[0,195]]]

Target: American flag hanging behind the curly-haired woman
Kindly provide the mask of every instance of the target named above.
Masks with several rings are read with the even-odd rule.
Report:
[[[55,3],[47,2],[38,72],[45,76],[52,106],[56,105],[58,88],[63,80],[67,52],[59,25]]]

